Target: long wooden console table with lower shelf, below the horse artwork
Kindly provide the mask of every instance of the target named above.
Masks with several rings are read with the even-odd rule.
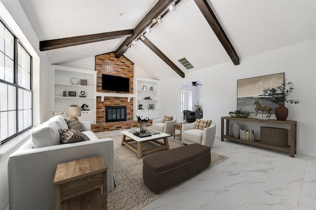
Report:
[[[224,120],[226,120],[226,134],[224,134]],[[249,142],[249,141],[245,141],[245,140],[241,140],[241,139],[236,139],[233,136],[228,135],[229,120],[288,124],[288,125],[290,125],[290,146],[278,147],[278,146],[273,146],[273,145],[262,144],[259,140],[256,140],[254,142]],[[260,119],[254,119],[254,118],[222,117],[222,120],[221,120],[221,141],[224,141],[224,139],[235,141],[235,142],[240,142],[240,143],[244,143],[244,144],[249,144],[249,145],[255,145],[258,147],[269,148],[269,149],[273,149],[273,150],[286,151],[286,152],[290,153],[291,157],[295,157],[295,154],[296,154],[296,121],[292,121],[292,120],[285,120],[285,121],[282,121],[282,120],[260,120]]]

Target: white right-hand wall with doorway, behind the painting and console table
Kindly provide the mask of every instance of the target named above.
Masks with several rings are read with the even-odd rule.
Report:
[[[216,136],[221,135],[221,117],[237,108],[237,80],[285,72],[285,78],[294,83],[290,98],[300,104],[285,106],[287,120],[297,121],[297,153],[316,156],[316,40],[279,48],[242,58],[240,65],[232,62],[208,67],[160,81],[160,112],[179,113],[179,90],[188,78],[204,78],[203,118],[216,121]],[[174,90],[174,91],[170,91]],[[272,119],[276,119],[273,115]]]

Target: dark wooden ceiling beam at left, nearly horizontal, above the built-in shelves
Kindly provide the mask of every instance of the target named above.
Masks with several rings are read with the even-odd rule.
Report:
[[[123,38],[132,35],[133,32],[134,30],[119,30],[106,33],[96,33],[90,35],[40,41],[40,51],[53,50],[63,47],[76,46],[80,44],[88,44],[92,42]]]

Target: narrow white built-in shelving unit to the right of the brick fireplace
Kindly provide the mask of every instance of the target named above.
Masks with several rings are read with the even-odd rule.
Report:
[[[158,89],[159,80],[141,77],[135,78],[136,98],[134,103],[134,120],[136,120],[136,116],[148,117],[151,120],[159,118]],[[145,99],[145,97],[150,97],[151,99]],[[143,109],[139,109],[139,104],[143,105]]]

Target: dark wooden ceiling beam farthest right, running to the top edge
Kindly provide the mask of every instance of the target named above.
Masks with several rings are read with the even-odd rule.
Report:
[[[216,34],[219,41],[222,43],[223,47],[225,48],[226,52],[228,53],[229,57],[232,59],[235,65],[239,65],[239,57],[228,39],[225,31],[223,30],[222,26],[218,22],[214,12],[212,11],[211,7],[207,3],[207,0],[194,0],[197,4],[199,10],[201,10],[202,14],[204,15],[206,21]]]

